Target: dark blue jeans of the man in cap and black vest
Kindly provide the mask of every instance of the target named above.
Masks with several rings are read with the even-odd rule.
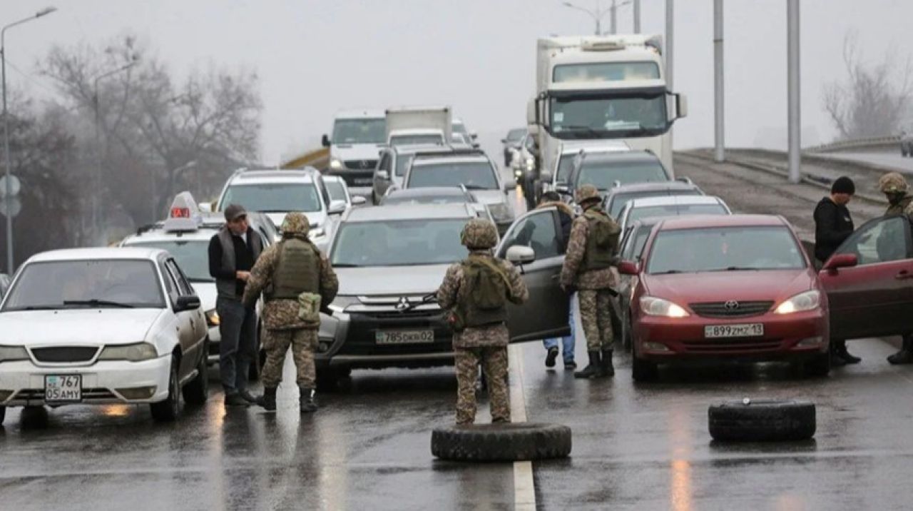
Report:
[[[240,302],[218,298],[215,310],[219,314],[219,376],[226,395],[247,389],[250,363],[257,356],[257,311]]]

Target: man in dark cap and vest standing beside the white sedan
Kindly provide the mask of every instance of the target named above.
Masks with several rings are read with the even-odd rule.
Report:
[[[209,240],[209,274],[215,279],[219,314],[219,373],[226,406],[247,406],[256,399],[247,391],[247,371],[257,357],[257,311],[241,303],[263,240],[247,224],[247,211],[237,204],[225,209],[226,224]]]

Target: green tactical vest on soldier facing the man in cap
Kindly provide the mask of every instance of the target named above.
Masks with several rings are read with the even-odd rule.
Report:
[[[320,253],[310,241],[279,241],[272,293],[267,300],[298,300],[301,293],[320,293]]]

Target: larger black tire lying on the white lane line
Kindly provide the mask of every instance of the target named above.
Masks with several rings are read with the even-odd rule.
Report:
[[[571,438],[571,428],[560,424],[448,426],[431,432],[431,453],[458,462],[549,460],[567,457]]]

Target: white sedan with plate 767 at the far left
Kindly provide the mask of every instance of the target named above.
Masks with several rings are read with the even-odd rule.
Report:
[[[165,250],[53,250],[30,258],[0,306],[6,407],[148,403],[173,421],[206,400],[206,320]]]

